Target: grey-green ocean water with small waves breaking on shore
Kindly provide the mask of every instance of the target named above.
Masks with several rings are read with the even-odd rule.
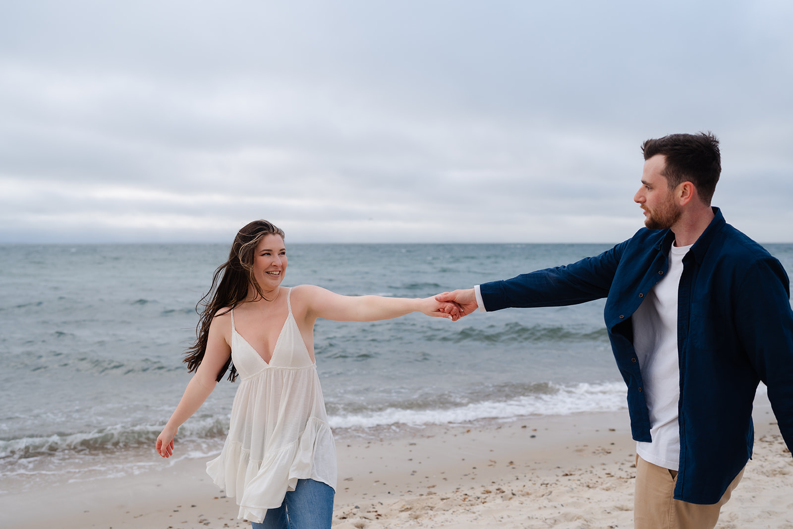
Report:
[[[285,286],[426,297],[596,255],[610,244],[292,244]],[[768,250],[793,271],[793,244]],[[190,374],[197,301],[225,244],[0,245],[0,493],[162,465],[154,442]],[[603,301],[381,322],[319,320],[337,435],[625,407]],[[236,384],[182,427],[220,449]],[[373,433],[374,432],[374,433]]]

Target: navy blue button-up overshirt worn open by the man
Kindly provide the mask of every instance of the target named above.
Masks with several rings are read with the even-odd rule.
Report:
[[[680,467],[675,498],[714,504],[752,455],[757,385],[793,448],[793,311],[780,262],[715,217],[683,259],[677,299]],[[651,442],[631,316],[668,269],[671,230],[642,228],[596,257],[480,286],[488,311],[606,297],[604,316],[628,386],[634,439]]]

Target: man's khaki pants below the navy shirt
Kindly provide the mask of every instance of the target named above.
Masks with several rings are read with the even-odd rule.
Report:
[[[712,505],[675,500],[677,471],[653,465],[636,456],[635,529],[713,529],[722,505],[730,500],[744,471],[727,487],[724,496]]]

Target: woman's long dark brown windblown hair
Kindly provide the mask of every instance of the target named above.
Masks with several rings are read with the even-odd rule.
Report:
[[[218,266],[217,270],[215,270],[209,292],[204,297],[201,297],[201,300],[196,305],[196,312],[201,316],[196,325],[196,341],[186,351],[185,358],[182,360],[182,362],[186,362],[187,370],[190,373],[197,370],[198,366],[201,366],[201,361],[204,359],[206,352],[206,344],[209,340],[209,325],[212,324],[215,316],[220,316],[218,311],[224,307],[229,307],[229,310],[234,309],[245,301],[249,286],[253,286],[256,289],[259,297],[264,297],[262,289],[253,274],[253,260],[259,241],[262,240],[262,237],[270,234],[284,238],[283,230],[266,220],[254,220],[249,224],[245,224],[234,237],[232,249],[228,252],[228,261]],[[200,306],[203,309],[199,310],[198,307]],[[222,314],[226,312],[222,312]],[[220,370],[220,373],[217,374],[215,380],[220,382],[229,367],[231,367],[231,372],[228,374],[228,380],[235,381],[237,370],[232,363],[231,355],[229,355],[228,360]]]

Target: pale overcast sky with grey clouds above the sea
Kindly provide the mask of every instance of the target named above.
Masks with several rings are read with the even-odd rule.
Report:
[[[619,242],[640,145],[793,241],[793,2],[0,7],[0,242]]]

